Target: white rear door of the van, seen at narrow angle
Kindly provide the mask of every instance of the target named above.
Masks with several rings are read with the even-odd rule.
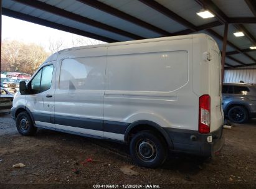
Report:
[[[210,40],[212,41],[212,40]],[[214,41],[212,43],[215,44]],[[216,47],[216,45],[211,45]],[[210,62],[210,96],[211,96],[211,132],[216,131],[223,123],[223,111],[221,106],[221,61],[217,48],[211,48]]]

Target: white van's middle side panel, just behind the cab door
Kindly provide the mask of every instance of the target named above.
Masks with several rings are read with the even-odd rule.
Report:
[[[103,136],[106,58],[59,60],[55,88],[56,129]]]

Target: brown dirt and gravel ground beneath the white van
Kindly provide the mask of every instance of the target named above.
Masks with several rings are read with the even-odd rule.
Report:
[[[135,165],[132,170],[139,174],[125,175],[120,168],[134,165],[126,145],[45,129],[39,129],[34,137],[24,137],[11,116],[4,115],[0,117],[0,188],[24,186],[16,184],[29,184],[25,188],[97,188],[97,184],[103,188],[111,187],[107,184],[118,188],[136,187],[130,184],[142,188],[145,184],[149,188],[149,184],[161,188],[255,188],[256,119],[224,129],[224,136],[224,148],[214,159],[170,153],[162,167]],[[26,167],[12,167],[19,163]]]

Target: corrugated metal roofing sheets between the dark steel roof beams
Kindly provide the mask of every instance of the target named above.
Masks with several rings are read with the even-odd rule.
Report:
[[[92,6],[92,4],[83,3],[79,0],[34,0],[22,1],[22,3],[20,1],[2,0],[3,13],[5,11],[16,11],[27,16],[32,16],[33,19],[38,18],[42,19],[43,21],[64,25],[65,27],[69,27],[69,29],[73,28],[80,31],[89,32],[89,34],[92,34],[92,36],[96,35],[95,38],[102,36],[105,38],[107,37],[106,40],[111,39],[113,41],[125,41],[134,40],[134,38],[131,36],[135,35],[140,38],[148,39],[163,36],[163,33],[161,34],[159,30],[162,30],[163,32],[166,31],[167,34],[169,33],[169,35],[177,32],[179,33],[181,31],[184,31],[185,33],[196,33],[195,30],[188,28],[183,21],[174,19],[173,17],[168,17],[166,14],[164,14],[164,12],[156,9],[156,7],[151,7],[140,0],[94,0],[90,2],[100,2],[105,4],[105,7],[110,6],[110,8],[115,8],[116,10],[127,14],[128,17],[132,16],[134,19],[140,19],[140,21],[144,24],[148,24],[148,27],[145,27],[143,24],[136,24],[133,22],[134,19],[133,21],[125,19],[120,15],[118,16],[118,14],[113,14],[111,11],[104,11],[98,6]],[[43,2],[48,6],[50,5],[58,8],[59,11],[65,10],[72,14],[76,14],[77,16],[82,16],[87,19],[91,19],[92,21],[97,21],[97,23],[100,22],[100,24],[103,25],[101,27],[97,27],[97,24],[91,25],[88,22],[81,22],[76,19],[60,16],[58,14],[59,11],[49,12],[49,9],[42,10],[42,7],[39,9],[31,4],[29,5],[28,2],[31,2],[32,4]],[[213,17],[211,19],[202,19],[196,15],[196,12],[200,11],[202,8],[201,4],[198,3],[201,2],[201,0],[156,0],[148,2],[156,2],[156,4],[159,4],[159,6],[169,9],[169,11],[172,11],[173,14],[178,15],[181,17],[181,19],[185,19],[187,22],[192,24],[192,29],[193,27],[198,27],[203,24],[218,22],[217,17]],[[246,50],[249,49],[250,46],[256,45],[256,40],[252,42],[252,40],[254,40],[256,37],[256,18],[244,0],[212,0],[207,2],[213,2],[216,4],[220,11],[224,12],[227,17],[250,17],[255,19],[254,24],[243,24],[245,29],[247,29],[252,35],[252,39],[249,39],[247,36],[239,38],[235,37],[233,33],[237,31],[237,27],[235,27],[233,24],[229,24],[228,40],[233,45],[230,43],[227,45],[227,52],[234,52],[243,49]],[[123,30],[123,34],[115,32],[115,30],[106,29],[106,25],[107,27]],[[220,36],[224,35],[224,25],[220,24],[217,27],[212,25],[212,30]],[[212,32],[207,30],[200,30],[198,32],[212,35]],[[184,33],[182,32],[181,34]],[[221,50],[222,39],[219,39],[219,37],[216,35],[212,35],[212,37],[216,40]],[[233,53],[230,55],[230,57],[233,60],[228,57],[225,60],[225,62],[229,65],[241,66],[239,62],[243,62],[245,64],[256,63],[256,51],[248,52],[248,50],[246,50],[244,53]],[[238,62],[235,61],[234,58],[238,60]]]

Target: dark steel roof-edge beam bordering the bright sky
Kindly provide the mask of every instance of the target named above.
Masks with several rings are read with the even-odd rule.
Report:
[[[90,32],[85,32],[83,30],[75,29],[73,27],[69,27],[67,25],[57,24],[55,22],[45,21],[44,19],[39,19],[38,17],[29,16],[27,14],[23,14],[21,12],[11,11],[9,9],[2,8],[2,14],[9,17],[14,17],[16,19],[20,19],[22,21],[32,22],[34,24],[44,25],[46,27],[52,27],[57,30],[62,30],[64,32],[70,32],[77,35],[82,35],[85,37],[90,37],[97,40],[102,40],[104,42],[117,42],[115,39],[110,39],[108,37],[103,37],[101,35],[93,34]]]

